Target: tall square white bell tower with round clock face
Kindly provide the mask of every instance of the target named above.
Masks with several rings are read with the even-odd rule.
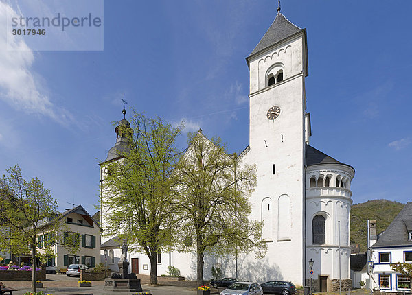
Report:
[[[304,283],[306,29],[280,13],[247,57],[250,75],[249,152],[258,182],[253,217],[264,222],[266,259],[282,276]],[[286,253],[293,253],[287,255]]]

